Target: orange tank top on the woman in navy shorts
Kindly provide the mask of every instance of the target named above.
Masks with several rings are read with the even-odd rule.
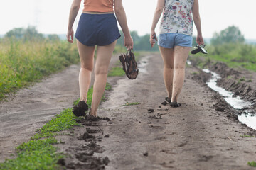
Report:
[[[114,0],[85,0],[84,12],[114,12]]]

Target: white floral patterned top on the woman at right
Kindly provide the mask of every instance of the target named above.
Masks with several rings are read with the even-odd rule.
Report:
[[[194,0],[165,0],[159,33],[193,34]]]

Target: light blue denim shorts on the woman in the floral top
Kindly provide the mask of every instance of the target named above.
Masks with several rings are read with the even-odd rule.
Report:
[[[192,47],[192,36],[181,33],[164,33],[158,38],[158,45],[165,48],[174,46]]]

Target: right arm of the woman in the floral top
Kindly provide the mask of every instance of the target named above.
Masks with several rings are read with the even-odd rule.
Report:
[[[199,3],[198,0],[194,0],[194,4],[193,4],[193,21],[196,25],[196,30],[198,32],[198,35],[196,37],[196,43],[198,43],[198,45],[203,45],[203,36],[202,36],[202,30],[201,30],[201,19],[200,19],[200,15],[199,15]]]

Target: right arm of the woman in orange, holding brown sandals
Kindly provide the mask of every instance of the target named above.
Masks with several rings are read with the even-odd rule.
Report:
[[[122,5],[122,0],[114,0],[114,13],[117,16],[117,21],[124,33],[124,46],[127,47],[127,49],[132,49],[134,42],[131,34],[129,33],[127,17],[124,11],[124,6]]]

